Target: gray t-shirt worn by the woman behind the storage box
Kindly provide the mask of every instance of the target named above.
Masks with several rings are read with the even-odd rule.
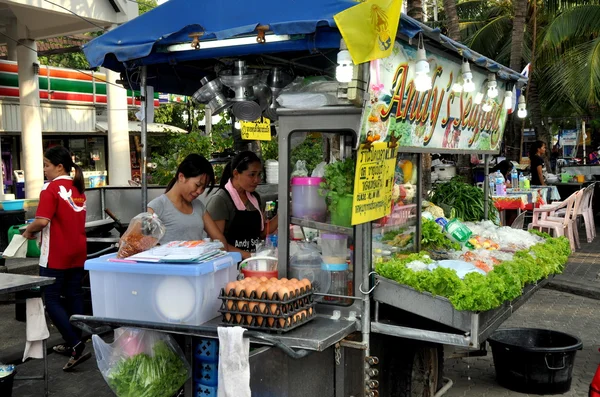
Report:
[[[206,207],[200,200],[192,202],[193,212],[184,214],[179,211],[166,194],[161,194],[148,203],[154,213],[165,225],[165,235],[160,239],[161,244],[171,241],[194,241],[206,237],[204,232],[204,212]]]

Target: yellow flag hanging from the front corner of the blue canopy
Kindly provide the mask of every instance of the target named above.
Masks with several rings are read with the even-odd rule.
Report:
[[[355,65],[389,56],[402,0],[366,0],[333,16]]]

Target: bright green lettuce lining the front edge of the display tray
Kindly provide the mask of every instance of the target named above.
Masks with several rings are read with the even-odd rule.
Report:
[[[523,287],[551,274],[562,273],[571,248],[565,237],[548,238],[529,250],[517,251],[510,261],[496,265],[487,275],[469,273],[463,280],[452,269],[413,271],[407,263],[431,263],[424,253],[379,263],[375,270],[382,277],[408,285],[418,291],[444,296],[456,310],[486,311],[521,295]]]

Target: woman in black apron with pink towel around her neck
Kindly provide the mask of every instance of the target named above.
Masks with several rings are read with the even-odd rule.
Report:
[[[256,187],[262,162],[253,152],[236,155],[223,171],[219,190],[209,198],[207,210],[223,232],[231,251],[247,259],[268,232],[277,230],[277,215],[267,221]]]

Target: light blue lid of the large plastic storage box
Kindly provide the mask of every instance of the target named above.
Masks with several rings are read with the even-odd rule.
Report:
[[[98,272],[116,272],[132,274],[157,274],[166,276],[201,276],[216,272],[221,269],[236,265],[242,260],[238,252],[229,252],[227,255],[213,261],[204,263],[139,263],[127,261],[127,259],[116,260],[117,254],[108,254],[95,259],[85,261],[85,269]],[[111,260],[112,259],[112,260]]]

